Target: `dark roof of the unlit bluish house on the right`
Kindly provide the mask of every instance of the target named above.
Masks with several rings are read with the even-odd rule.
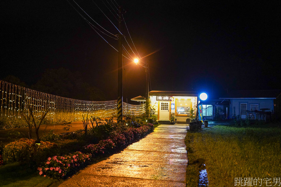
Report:
[[[230,91],[225,97],[220,99],[231,98],[271,98],[275,99],[280,96],[281,90],[235,90]]]

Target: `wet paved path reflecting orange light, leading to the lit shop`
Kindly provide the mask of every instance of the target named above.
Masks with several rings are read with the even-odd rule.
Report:
[[[60,186],[186,186],[186,125],[159,125],[122,152]]]

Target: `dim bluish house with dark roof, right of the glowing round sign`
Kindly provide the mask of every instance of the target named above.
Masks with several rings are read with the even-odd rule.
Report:
[[[276,118],[280,118],[281,90],[231,91],[219,99],[229,101],[230,117],[260,119],[261,115],[271,112]]]

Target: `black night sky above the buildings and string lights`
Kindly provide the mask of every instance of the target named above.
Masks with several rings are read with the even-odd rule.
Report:
[[[103,4],[113,7],[112,1],[95,0],[117,26]],[[281,1],[116,1],[126,10],[140,56],[158,51],[143,59],[150,64],[152,90],[206,91],[218,97],[226,89],[280,89]],[[76,2],[118,34],[93,1]],[[7,1],[1,7],[0,79],[14,75],[31,85],[46,68],[64,67],[81,72],[107,100],[117,99],[118,53],[66,0]],[[122,32],[136,53],[125,27]],[[100,34],[117,49],[117,40]],[[145,96],[144,68],[126,58],[124,64],[123,100]]]

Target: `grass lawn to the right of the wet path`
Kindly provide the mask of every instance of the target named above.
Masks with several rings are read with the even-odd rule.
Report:
[[[209,186],[234,186],[237,177],[268,178],[273,186],[274,178],[281,177],[280,127],[281,124],[215,126],[188,131],[187,186],[198,186],[202,164],[206,164]]]

